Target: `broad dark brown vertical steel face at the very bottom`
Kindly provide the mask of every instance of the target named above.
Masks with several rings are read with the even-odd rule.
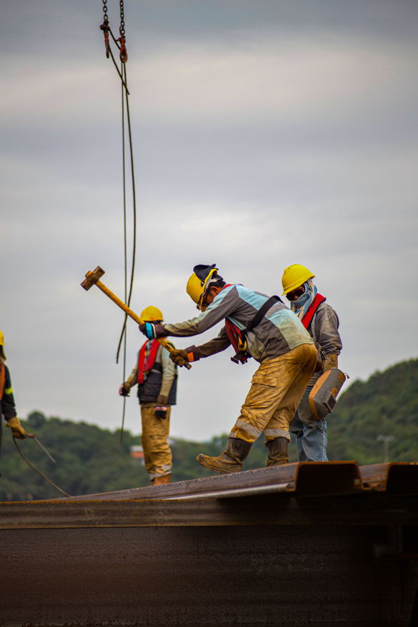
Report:
[[[353,498],[363,500],[338,497],[323,506],[332,517],[332,501]],[[181,501],[185,506],[191,503]],[[418,564],[387,556],[403,560],[417,548],[395,531],[322,523],[6,529],[0,624],[409,627],[417,624]]]

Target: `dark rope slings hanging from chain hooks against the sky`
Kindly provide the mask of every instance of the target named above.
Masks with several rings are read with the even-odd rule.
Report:
[[[129,89],[128,81],[126,77],[126,61],[128,60],[128,52],[126,51],[126,38],[125,38],[125,21],[124,21],[124,0],[119,0],[121,23],[119,26],[119,39],[115,39],[114,34],[109,26],[109,17],[107,15],[107,0],[103,1],[103,13],[104,20],[100,28],[104,32],[104,45],[106,48],[106,57],[111,57],[114,66],[116,67],[119,78],[121,79],[121,104],[122,104],[122,169],[123,169],[123,188],[124,188],[124,278],[125,278],[125,304],[130,306],[132,290],[134,287],[134,271],[135,271],[135,254],[136,254],[136,194],[135,194],[135,173],[134,173],[134,151],[132,146],[132,134],[131,134],[131,116],[129,112]],[[109,33],[111,38],[119,49],[119,59],[121,61],[121,69],[116,64],[111,47],[109,44]],[[129,285],[129,293],[127,289],[127,246],[126,246],[126,164],[125,164],[125,104],[126,104],[126,121],[128,126],[129,136],[129,153],[131,158],[131,180],[132,180],[132,202],[133,202],[133,226],[134,234],[132,241],[132,264],[131,264],[131,279]],[[128,316],[125,315],[124,324],[121,330],[121,336],[119,338],[119,344],[116,351],[116,363],[119,363],[119,353],[121,350],[121,343],[124,341],[124,366],[123,375],[125,380],[126,374],[126,321]],[[124,421],[125,421],[125,406],[126,397],[124,397],[124,407],[122,413],[122,426],[121,426],[121,441],[124,434]]]

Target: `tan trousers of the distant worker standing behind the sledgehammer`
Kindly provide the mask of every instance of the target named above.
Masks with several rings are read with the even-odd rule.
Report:
[[[155,405],[141,406],[141,444],[144,450],[145,468],[151,480],[171,473],[171,448],[167,441],[170,431],[170,412],[171,407],[167,407],[167,417],[163,420],[155,415]]]

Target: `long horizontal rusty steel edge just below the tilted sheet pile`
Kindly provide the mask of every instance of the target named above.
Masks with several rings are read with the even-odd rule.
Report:
[[[0,530],[258,525],[418,525],[418,498],[380,493],[312,498],[268,494],[177,501],[0,503]]]

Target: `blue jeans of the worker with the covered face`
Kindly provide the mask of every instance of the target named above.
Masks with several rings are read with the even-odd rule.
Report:
[[[309,407],[308,396],[313,386],[308,386],[299,403],[289,430],[296,435],[299,461],[328,461],[327,420],[315,420]]]

